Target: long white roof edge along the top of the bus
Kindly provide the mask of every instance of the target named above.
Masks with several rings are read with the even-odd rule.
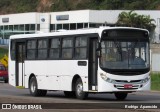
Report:
[[[32,37],[49,37],[49,36],[63,36],[63,35],[78,35],[78,34],[91,34],[97,33],[99,36],[103,30],[107,29],[137,29],[142,31],[147,31],[146,29],[133,28],[133,27],[99,27],[99,28],[85,28],[77,30],[59,30],[58,32],[49,32],[49,33],[35,33],[35,34],[17,34],[10,36],[10,39],[19,39],[19,38],[32,38]]]

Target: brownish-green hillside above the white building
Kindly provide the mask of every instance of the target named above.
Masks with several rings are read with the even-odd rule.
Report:
[[[81,9],[156,10],[160,0],[0,0],[0,14]]]

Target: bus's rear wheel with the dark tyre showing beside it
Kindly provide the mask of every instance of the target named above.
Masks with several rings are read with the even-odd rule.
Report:
[[[29,82],[29,90],[32,96],[45,96],[47,91],[37,89],[37,80],[35,77],[32,77]]]

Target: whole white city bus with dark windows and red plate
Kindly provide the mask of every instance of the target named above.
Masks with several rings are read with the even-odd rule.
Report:
[[[9,83],[33,96],[48,90],[85,99],[88,93],[150,90],[149,32],[100,27],[10,37]]]

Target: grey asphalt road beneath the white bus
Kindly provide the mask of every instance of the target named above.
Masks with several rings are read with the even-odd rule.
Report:
[[[127,96],[126,100],[124,101],[117,101],[114,94],[89,94],[89,97],[86,100],[78,100],[75,98],[67,98],[64,96],[62,91],[48,91],[47,95],[45,97],[33,97],[29,94],[28,89],[17,89],[9,84],[5,84],[3,82],[0,82],[0,103],[52,103],[55,104],[56,106],[62,105],[62,106],[70,106],[70,108],[74,106],[77,106],[75,104],[83,104],[82,107],[78,108],[83,108],[82,109],[84,112],[86,111],[85,106],[86,104],[90,103],[95,103],[95,106],[98,105],[99,103],[101,104],[107,104],[107,105],[115,105],[115,104],[120,104],[120,103],[125,103],[129,105],[134,105],[134,104],[143,104],[143,103],[148,103],[149,105],[157,105],[160,104],[160,92],[136,92],[136,93],[131,93]],[[96,104],[97,103],[97,104]],[[57,105],[58,104],[58,105]],[[65,105],[64,105],[65,104]],[[66,105],[66,104],[71,104],[71,105]],[[91,106],[91,105],[89,105]],[[68,108],[68,107],[67,107]],[[75,107],[76,108],[76,107]],[[103,111],[103,106],[102,109],[101,107],[93,107],[93,109],[100,109]],[[114,107],[113,107],[114,108]],[[91,111],[92,107],[89,108]],[[95,111],[92,110],[93,111]],[[81,111],[82,111],[81,110]],[[109,112],[112,112],[113,109],[109,110]],[[2,110],[0,110],[2,111]],[[4,111],[4,110],[3,110]],[[63,111],[67,111],[66,109]],[[73,111],[73,110],[72,110]],[[77,110],[76,110],[77,111]],[[79,110],[80,111],[80,110]],[[125,111],[134,111],[135,109],[125,109],[125,110],[119,110],[116,109],[115,111],[118,112],[125,112]],[[139,111],[139,110],[136,110]],[[140,109],[141,112],[143,111],[160,111],[158,109]],[[97,112],[97,111],[95,111]]]

